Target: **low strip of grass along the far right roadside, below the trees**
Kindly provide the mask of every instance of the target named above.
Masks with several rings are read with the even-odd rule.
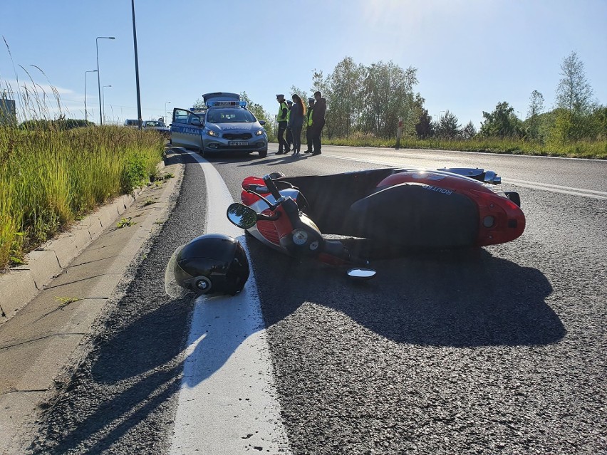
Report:
[[[350,145],[354,147],[394,147],[395,142],[394,139],[383,140],[365,135],[334,138],[332,140],[323,137],[323,144],[326,145]],[[607,159],[607,140],[579,141],[571,144],[552,145],[517,139],[500,139],[497,137],[478,137],[470,140],[418,140],[403,137],[403,139],[400,140],[400,147],[507,153],[512,155]]]

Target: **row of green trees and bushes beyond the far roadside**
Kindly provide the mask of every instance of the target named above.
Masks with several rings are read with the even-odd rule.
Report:
[[[328,139],[370,136],[395,137],[398,119],[403,120],[403,136],[418,139],[459,139],[507,137],[540,143],[566,144],[579,140],[607,139],[607,107],[593,99],[583,63],[572,52],[561,63],[561,80],[556,87],[554,108],[546,110],[544,95],[531,92],[526,119],[517,117],[512,105],[500,101],[490,112],[483,112],[479,130],[472,121],[462,125],[455,113],[445,111],[437,120],[425,108],[425,100],[415,92],[417,69],[403,69],[392,61],[365,66],[351,57],[343,58],[331,73],[314,70],[310,93],[320,90],[327,100]],[[292,93],[307,97],[305,90],[291,86]],[[243,98],[259,119],[274,128],[274,115],[261,105]]]

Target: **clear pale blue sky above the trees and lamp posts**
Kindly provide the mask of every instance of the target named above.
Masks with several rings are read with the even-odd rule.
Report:
[[[532,90],[551,108],[559,66],[576,51],[607,104],[606,0],[136,0],[135,9],[144,120],[212,91],[246,91],[274,113],[276,93],[309,90],[314,68],[330,73],[345,56],[417,68],[431,115],[449,109],[478,127],[500,101],[525,117]],[[130,0],[3,0],[0,14],[12,55],[0,41],[0,88],[15,89],[16,75],[28,83],[23,66],[57,88],[69,117],[84,118],[95,38],[115,36],[99,40],[101,85],[112,85],[105,113],[137,117]],[[95,73],[86,89],[98,121]]]

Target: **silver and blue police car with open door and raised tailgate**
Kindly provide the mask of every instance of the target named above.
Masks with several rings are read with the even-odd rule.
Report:
[[[268,155],[265,121],[257,120],[247,103],[237,93],[202,95],[204,108],[175,108],[171,127],[171,144],[198,150],[204,154],[224,155],[233,152],[258,152]]]

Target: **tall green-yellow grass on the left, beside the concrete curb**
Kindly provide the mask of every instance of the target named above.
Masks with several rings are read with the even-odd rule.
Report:
[[[0,127],[0,271],[72,221],[155,175],[155,132]]]

